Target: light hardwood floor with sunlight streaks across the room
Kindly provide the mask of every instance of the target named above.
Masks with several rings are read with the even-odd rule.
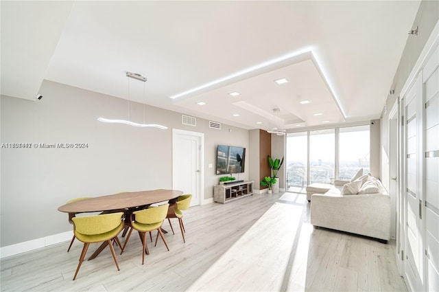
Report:
[[[305,194],[191,207],[184,222],[186,243],[178,221],[175,235],[165,222],[170,251],[161,239],[156,247],[148,241],[141,265],[141,242],[132,234],[122,255],[115,247],[120,271],[107,248],[84,261],[75,281],[78,241],[69,253],[66,242],[4,258],[1,291],[407,291],[392,245],[313,229]]]

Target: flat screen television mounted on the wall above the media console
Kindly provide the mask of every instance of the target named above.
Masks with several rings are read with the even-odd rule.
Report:
[[[244,172],[246,148],[218,145],[217,175],[228,175]]]

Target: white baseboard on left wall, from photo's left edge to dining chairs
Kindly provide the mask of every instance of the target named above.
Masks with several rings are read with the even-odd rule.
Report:
[[[41,247],[47,247],[49,245],[63,243],[64,241],[71,240],[72,236],[73,236],[73,232],[68,231],[68,232],[62,232],[60,234],[46,236],[43,238],[37,238],[37,239],[25,241],[23,243],[16,243],[15,245],[0,247],[0,258],[6,258],[8,256],[14,256],[16,254],[21,254],[26,251],[40,249]]]

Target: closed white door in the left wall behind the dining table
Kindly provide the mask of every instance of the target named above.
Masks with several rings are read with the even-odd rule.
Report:
[[[172,188],[192,194],[191,206],[202,199],[202,144],[204,134],[174,129],[172,139]]]

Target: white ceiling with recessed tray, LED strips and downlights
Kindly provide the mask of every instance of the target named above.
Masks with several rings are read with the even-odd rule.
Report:
[[[419,3],[1,1],[1,94],[51,80],[247,129],[274,108],[284,128],[372,120]]]

